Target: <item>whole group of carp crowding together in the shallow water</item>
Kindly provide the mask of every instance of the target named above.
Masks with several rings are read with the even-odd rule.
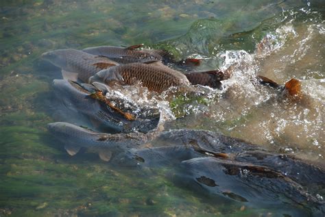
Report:
[[[164,50],[131,47],[91,47],[78,51],[60,49],[43,53],[60,68],[63,79],[53,81],[57,123],[48,130],[75,155],[82,149],[117,166],[156,168],[169,166],[178,183],[203,195],[223,197],[251,207],[282,207],[306,216],[325,214],[317,190],[325,188],[325,167],[261,149],[243,140],[205,130],[164,128],[165,112],[139,106],[123,96],[108,94],[117,86],[141,85],[162,94],[173,87],[221,88],[230,78],[226,71],[191,71],[200,60],[173,60]],[[169,64],[176,66],[171,68]],[[182,70],[182,66],[190,70]],[[300,81],[284,85],[257,76],[258,85],[284,95],[300,97]],[[293,211],[294,212],[294,211]]]

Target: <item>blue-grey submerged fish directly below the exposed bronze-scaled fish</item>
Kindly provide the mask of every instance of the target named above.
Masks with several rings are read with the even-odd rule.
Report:
[[[87,88],[85,87],[87,86]],[[123,131],[147,132],[157,127],[159,113],[158,111],[142,108],[141,114],[134,114],[134,119],[125,118],[123,112],[117,112],[98,99],[94,99],[93,92],[97,89],[87,84],[77,84],[73,81],[57,80],[53,81],[54,92],[57,96],[59,105],[54,105],[56,112],[61,112],[62,116],[67,116],[67,110],[70,113],[85,116],[99,129]],[[109,101],[110,99],[106,99]],[[115,99],[113,99],[115,100]],[[61,105],[61,106],[60,106]],[[123,102],[119,103],[119,107],[123,110]],[[61,111],[62,110],[62,111]],[[139,110],[138,107],[132,107],[128,104],[129,110]]]

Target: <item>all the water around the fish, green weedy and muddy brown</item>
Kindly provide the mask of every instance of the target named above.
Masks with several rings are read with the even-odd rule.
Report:
[[[93,153],[69,157],[46,130],[55,121],[51,80],[60,74],[39,56],[144,43],[176,58],[203,58],[197,71],[233,65],[223,90],[197,87],[200,94],[186,97],[170,90],[159,98],[173,112],[165,129],[221,131],[324,163],[324,9],[323,1],[1,1],[0,215],[283,214],[182,188],[169,179],[170,168],[118,168]],[[254,85],[254,75],[279,84],[300,79],[302,101]]]

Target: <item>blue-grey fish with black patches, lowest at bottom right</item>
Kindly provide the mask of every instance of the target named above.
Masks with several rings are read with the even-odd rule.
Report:
[[[302,173],[304,173],[302,171]],[[251,207],[277,207],[282,214],[322,216],[325,205],[289,177],[265,166],[215,157],[182,162],[178,181],[197,192]]]

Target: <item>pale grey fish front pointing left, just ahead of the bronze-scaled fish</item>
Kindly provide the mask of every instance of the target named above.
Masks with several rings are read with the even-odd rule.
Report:
[[[99,57],[75,49],[60,49],[42,54],[42,58],[62,69],[64,78],[76,80],[79,78],[88,83],[89,77],[110,66],[117,66],[119,63],[108,58]]]

